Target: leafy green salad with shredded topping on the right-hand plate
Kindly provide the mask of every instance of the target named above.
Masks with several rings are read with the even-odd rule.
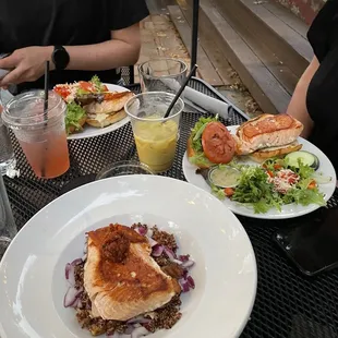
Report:
[[[220,200],[227,197],[242,205],[253,207],[255,214],[265,214],[270,208],[281,210],[290,203],[307,206],[326,205],[317,183],[325,180],[315,173],[315,169],[304,165],[301,159],[290,165],[288,158],[275,158],[262,166],[242,165],[236,161],[229,165],[240,170],[236,188],[224,189],[212,184],[213,193]],[[221,169],[225,166],[219,166]]]

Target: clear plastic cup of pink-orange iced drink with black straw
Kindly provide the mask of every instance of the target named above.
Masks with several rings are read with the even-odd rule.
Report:
[[[4,107],[3,122],[13,130],[27,161],[38,178],[52,179],[70,167],[64,117],[65,102],[49,93],[44,110],[44,90],[15,96]]]

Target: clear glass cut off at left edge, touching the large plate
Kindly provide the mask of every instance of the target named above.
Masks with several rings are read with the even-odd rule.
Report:
[[[2,176],[0,176],[0,261],[16,232],[10,201]]]

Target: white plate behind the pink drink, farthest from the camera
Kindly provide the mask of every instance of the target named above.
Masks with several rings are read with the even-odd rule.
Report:
[[[109,92],[119,92],[119,93],[130,92],[129,89],[121,87],[121,86],[118,86],[118,85],[113,85],[113,84],[109,84],[109,83],[105,83],[105,85],[108,87]],[[111,125],[105,126],[105,128],[95,128],[95,126],[85,124],[82,132],[71,134],[67,138],[68,140],[82,140],[82,138],[90,138],[90,137],[105,135],[105,134],[108,134],[108,133],[111,133],[111,132],[118,130],[119,128],[129,123],[129,121],[130,121],[130,118],[125,117],[121,121],[113,123]]]

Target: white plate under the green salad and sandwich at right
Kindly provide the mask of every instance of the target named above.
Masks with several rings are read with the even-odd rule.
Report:
[[[231,125],[228,126],[228,130],[234,134],[238,125]],[[336,189],[336,172],[333,164],[329,161],[329,159],[326,157],[326,155],[319,150],[316,146],[314,146],[312,143],[309,141],[299,137],[299,143],[303,145],[302,150],[310,152],[312,154],[315,154],[321,162],[321,167],[318,169],[318,172],[323,172],[324,176],[331,177],[333,180],[330,183],[327,184],[321,184],[319,185],[319,191],[325,194],[325,201],[328,201],[330,196],[334,194],[335,189]],[[257,165],[254,161],[245,161],[245,164],[252,164],[252,165]],[[202,188],[203,190],[210,192],[210,186],[206,183],[206,181],[203,179],[201,174],[196,174],[196,167],[192,165],[188,160],[186,153],[183,156],[183,172],[184,177],[188,182]],[[232,202],[229,198],[226,198],[222,201],[224,205],[227,206],[231,212],[242,215],[242,216],[248,216],[248,217],[253,217],[253,218],[262,218],[262,219],[285,219],[285,218],[293,218],[302,215],[310,214],[317,209],[319,206],[316,204],[311,204],[309,206],[302,206],[302,205],[295,205],[295,204],[289,204],[289,205],[283,205],[281,207],[281,212],[278,212],[276,208],[271,208],[268,210],[266,214],[255,214],[254,210],[250,207],[245,207],[240,205],[237,202]]]

